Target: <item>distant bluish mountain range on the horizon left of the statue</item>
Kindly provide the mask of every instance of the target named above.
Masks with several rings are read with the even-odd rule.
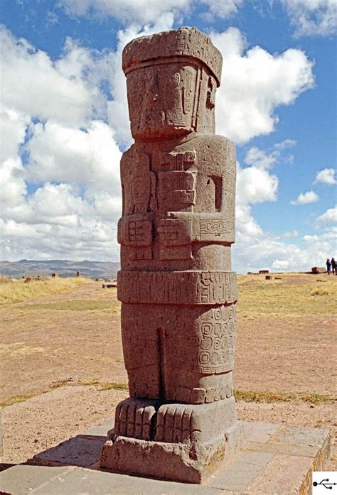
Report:
[[[0,274],[11,278],[23,276],[51,276],[57,273],[60,277],[74,277],[77,271],[90,278],[117,278],[119,263],[108,261],[68,261],[50,259],[48,261],[21,259],[20,261],[0,261]]]

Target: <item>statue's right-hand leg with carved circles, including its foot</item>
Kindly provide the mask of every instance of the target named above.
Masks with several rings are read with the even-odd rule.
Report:
[[[170,325],[164,329],[161,345],[164,404],[157,413],[156,440],[184,442],[191,438],[203,414],[212,418],[216,411],[212,404],[218,401],[222,403],[222,424],[231,428],[237,416],[228,309],[172,306],[169,311]]]

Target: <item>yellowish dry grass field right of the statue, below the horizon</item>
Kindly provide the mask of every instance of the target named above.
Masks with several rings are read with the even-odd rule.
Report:
[[[310,275],[280,277],[281,280],[272,281],[256,275],[238,277],[238,311],[242,317],[337,314],[337,277],[326,276],[323,287],[317,286],[321,280]]]

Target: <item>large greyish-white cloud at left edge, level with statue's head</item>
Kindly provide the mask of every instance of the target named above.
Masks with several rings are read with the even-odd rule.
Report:
[[[97,90],[80,77],[69,77],[46,52],[0,28],[2,103],[11,111],[35,119],[85,124]]]

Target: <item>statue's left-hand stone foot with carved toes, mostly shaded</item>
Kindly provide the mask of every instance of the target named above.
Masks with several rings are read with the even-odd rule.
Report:
[[[112,436],[139,438],[151,440],[154,430],[154,418],[159,407],[158,401],[127,398],[116,408],[114,430]]]

